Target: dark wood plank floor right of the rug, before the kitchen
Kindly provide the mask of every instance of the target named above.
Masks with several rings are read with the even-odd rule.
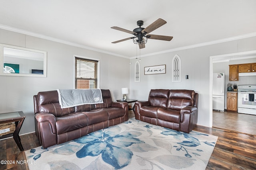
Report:
[[[207,170],[256,169],[255,135],[203,126],[196,126],[194,130],[218,136]]]

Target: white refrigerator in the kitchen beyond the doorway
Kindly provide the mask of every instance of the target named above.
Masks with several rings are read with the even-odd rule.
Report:
[[[213,73],[212,76],[212,109],[224,111],[225,107],[225,74]]]

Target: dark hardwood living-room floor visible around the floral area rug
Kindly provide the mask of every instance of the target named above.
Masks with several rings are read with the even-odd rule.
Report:
[[[129,118],[134,113],[129,111]],[[222,121],[222,120],[219,120]],[[255,126],[255,125],[254,125]],[[256,169],[256,135],[197,125],[195,131],[218,136],[218,141],[208,162],[206,170],[255,170]],[[21,135],[24,150],[40,146],[35,133]],[[14,139],[0,141],[0,160],[26,160]],[[28,170],[27,164],[0,164],[0,170]]]

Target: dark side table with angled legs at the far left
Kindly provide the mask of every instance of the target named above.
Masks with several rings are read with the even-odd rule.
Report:
[[[20,128],[24,122],[25,117],[26,116],[24,115],[24,113],[22,111],[0,114],[0,124],[15,122],[15,131],[13,133],[0,136],[0,139],[4,139],[7,137],[13,137],[13,139],[16,142],[16,144],[18,145],[20,151],[24,150],[22,147],[22,144],[20,142],[19,133],[20,133]],[[8,130],[10,131],[10,129],[7,128],[7,131]]]

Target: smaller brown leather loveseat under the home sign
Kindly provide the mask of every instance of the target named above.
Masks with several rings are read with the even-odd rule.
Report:
[[[198,93],[194,90],[150,90],[148,101],[137,101],[135,118],[176,131],[190,133],[197,123]]]

